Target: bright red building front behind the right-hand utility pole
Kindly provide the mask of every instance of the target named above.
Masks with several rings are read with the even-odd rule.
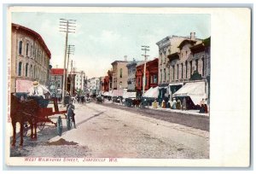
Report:
[[[146,63],[145,91],[158,85],[158,58]],[[137,96],[143,96],[144,63],[136,67]]]

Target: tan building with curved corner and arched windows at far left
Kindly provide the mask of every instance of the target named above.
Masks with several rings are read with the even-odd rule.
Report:
[[[26,92],[34,80],[48,85],[50,58],[50,51],[38,32],[12,23],[10,92]]]

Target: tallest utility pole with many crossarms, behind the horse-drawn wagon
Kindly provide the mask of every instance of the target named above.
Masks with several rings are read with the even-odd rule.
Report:
[[[65,41],[65,55],[64,55],[64,71],[63,71],[63,83],[62,83],[62,105],[64,106],[64,98],[65,98],[65,87],[66,87],[66,59],[67,59],[67,40],[68,40],[68,32],[75,31],[75,21],[76,20],[66,20],[60,19],[60,32],[66,32],[66,41]]]

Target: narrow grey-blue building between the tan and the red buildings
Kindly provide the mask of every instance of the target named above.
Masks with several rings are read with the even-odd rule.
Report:
[[[135,59],[133,59],[133,61],[131,61],[126,65],[128,69],[128,80],[127,80],[128,92],[132,92],[136,90],[136,67],[141,63],[143,63],[143,61],[135,61]]]

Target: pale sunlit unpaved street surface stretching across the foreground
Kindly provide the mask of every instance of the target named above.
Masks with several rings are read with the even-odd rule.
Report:
[[[143,116],[94,102],[76,104],[77,129],[56,136],[55,126],[26,137],[11,156],[117,157],[162,159],[209,158],[209,132]]]

